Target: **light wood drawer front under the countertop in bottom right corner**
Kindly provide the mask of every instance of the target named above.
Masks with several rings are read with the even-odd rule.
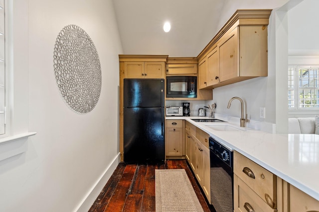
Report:
[[[319,201],[290,185],[290,212],[319,212]]]

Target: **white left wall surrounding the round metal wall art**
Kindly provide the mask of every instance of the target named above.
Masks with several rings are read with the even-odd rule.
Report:
[[[16,41],[24,42],[22,50],[14,52],[16,67],[19,61],[26,65],[14,69],[15,75],[24,74],[28,84],[15,86],[27,95],[24,120],[37,135],[29,139],[26,152],[0,161],[0,211],[87,211],[98,194],[88,196],[91,190],[97,184],[100,192],[119,162],[118,55],[122,46],[112,0],[14,0],[13,5],[28,11],[22,17],[28,27],[15,25],[25,31],[16,35]],[[82,115],[67,107],[54,78],[54,44],[69,24],[86,31],[101,63],[100,99]],[[19,129],[14,125],[12,131]],[[98,184],[100,178],[103,182]]]

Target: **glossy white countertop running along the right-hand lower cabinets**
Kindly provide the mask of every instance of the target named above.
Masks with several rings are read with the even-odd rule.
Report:
[[[198,118],[207,117],[166,117],[166,119],[187,120],[212,138],[240,152],[319,201],[319,135],[271,134],[248,129],[215,131],[205,125],[220,125],[220,123],[191,120]],[[239,123],[238,125],[235,123],[235,126],[239,126]]]

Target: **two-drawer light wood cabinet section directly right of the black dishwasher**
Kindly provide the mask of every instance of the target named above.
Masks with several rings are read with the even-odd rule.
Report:
[[[277,176],[234,151],[234,211],[277,212]]]

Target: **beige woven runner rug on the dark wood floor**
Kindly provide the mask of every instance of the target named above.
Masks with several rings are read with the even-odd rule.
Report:
[[[155,170],[156,212],[203,212],[184,169]]]

